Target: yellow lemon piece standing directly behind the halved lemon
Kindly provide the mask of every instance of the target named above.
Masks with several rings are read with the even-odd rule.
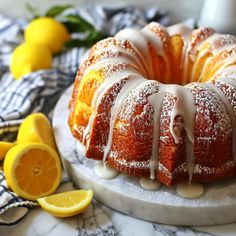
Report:
[[[18,131],[17,143],[44,143],[57,151],[53,129],[43,113],[34,113],[24,119]]]

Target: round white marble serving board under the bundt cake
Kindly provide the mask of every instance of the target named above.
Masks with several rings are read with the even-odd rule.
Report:
[[[67,125],[71,92],[69,88],[59,100],[53,127],[64,165],[78,186],[93,189],[98,201],[115,210],[153,222],[199,226],[236,221],[235,179],[204,185],[200,198],[185,199],[175,187],[148,191],[140,187],[138,178],[124,174],[112,180],[99,178],[94,172],[95,161],[86,159],[83,150],[76,148],[77,141]]]

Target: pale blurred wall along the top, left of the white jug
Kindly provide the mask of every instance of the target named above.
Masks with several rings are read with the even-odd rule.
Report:
[[[13,18],[27,18],[29,15],[25,8],[26,2],[37,6],[42,12],[55,4],[73,4],[77,7],[90,4],[118,5],[109,0],[0,0],[0,14]],[[170,12],[171,23],[176,23],[188,18],[198,19],[203,2],[204,0],[119,0],[119,5],[126,3],[140,7],[158,6]]]

